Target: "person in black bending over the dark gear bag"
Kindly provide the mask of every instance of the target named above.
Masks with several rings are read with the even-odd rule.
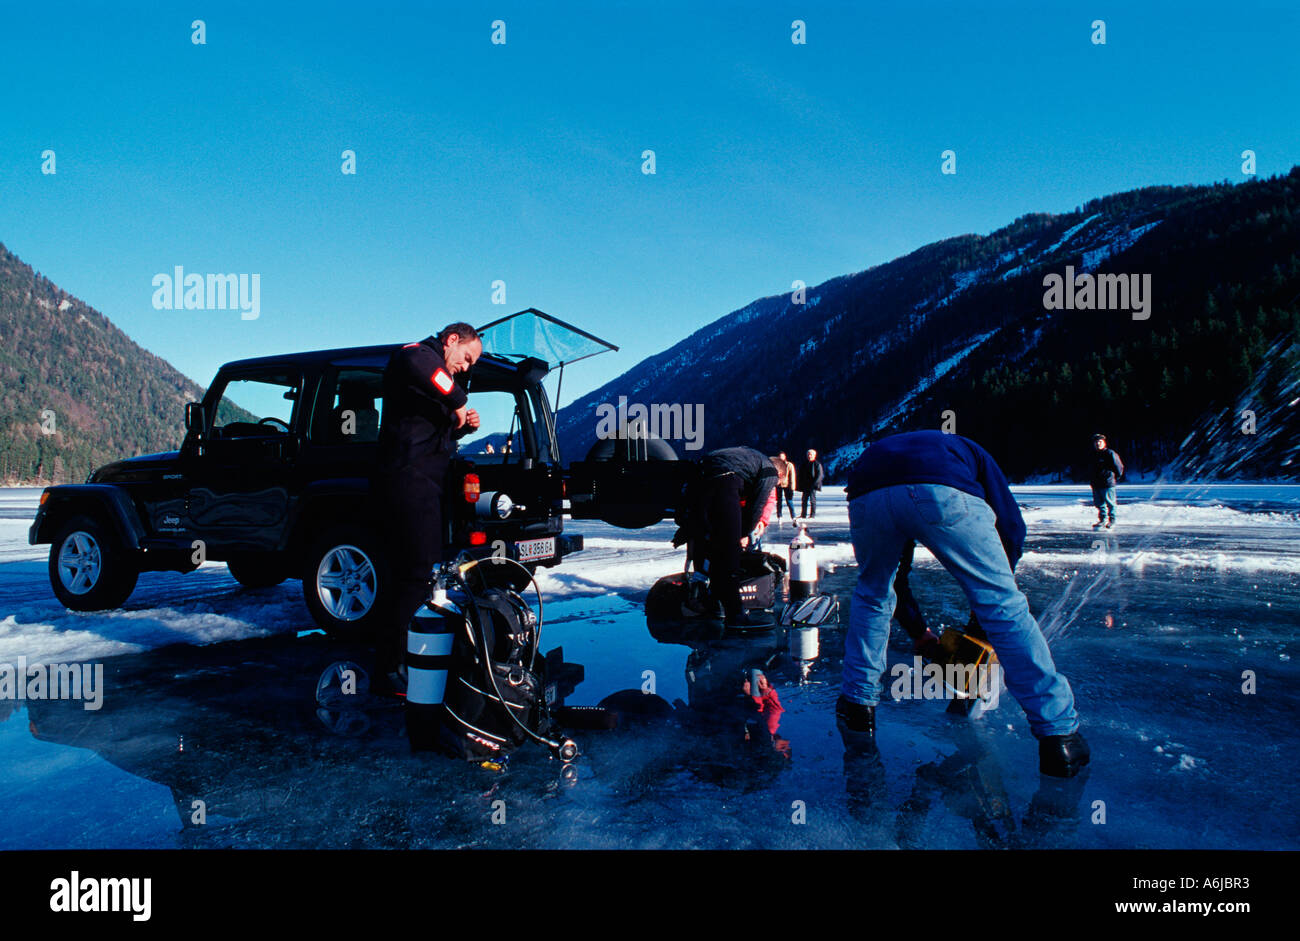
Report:
[[[688,541],[698,571],[708,560],[711,599],[731,626],[751,624],[740,600],[740,552],[758,538],[776,508],[776,465],[751,447],[724,447],[705,455],[688,495],[690,520],[673,545]]]

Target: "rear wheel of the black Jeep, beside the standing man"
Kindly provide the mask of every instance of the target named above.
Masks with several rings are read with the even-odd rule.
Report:
[[[378,541],[360,526],[339,526],[317,538],[303,565],[303,599],[330,637],[358,639],[382,617],[390,585]]]

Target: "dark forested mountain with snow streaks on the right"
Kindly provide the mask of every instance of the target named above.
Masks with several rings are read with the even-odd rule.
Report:
[[[1254,411],[1277,446],[1225,426],[1223,467],[1178,467],[1296,477],[1300,409],[1277,390],[1297,369],[1297,217],[1300,168],[1134,190],[936,242],[809,287],[802,304],[760,298],[708,324],[567,406],[560,442],[568,458],[585,454],[595,409],[625,395],[703,404],[706,450],[815,447],[832,474],[883,434],[945,421],[1018,477],[1069,473],[1096,430],[1135,469],[1157,469],[1193,429],[1222,424],[1268,369],[1274,391]],[[1091,309],[1100,285],[1087,296],[1067,287],[1074,303],[1048,309],[1050,274],[1075,285],[1131,276],[1134,294],[1112,283],[1110,300],[1127,307]]]

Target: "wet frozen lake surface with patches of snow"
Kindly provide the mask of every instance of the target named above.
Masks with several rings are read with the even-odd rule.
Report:
[[[412,755],[399,708],[351,736],[317,719],[320,669],[360,652],[307,633],[296,581],[246,590],[209,563],[143,574],[121,611],[69,612],[48,547],[26,542],[39,490],[0,490],[0,663],[105,668],[100,711],[0,701],[0,849],[1300,847],[1300,487],[1122,486],[1102,534],[1087,487],[1013,490],[1030,526],[1018,580],[1093,753],[1070,782],[1037,773],[1010,697],[975,720],[883,703],[879,750],[846,756],[832,716],[842,626],[822,630],[806,677],[780,632],[653,634],[645,591],[682,561],[670,524],[568,524],[588,548],[540,582],[542,649],[585,667],[568,702],[653,681],[672,715],[575,733],[576,780],[534,747],[503,772]],[[823,590],[846,623],[842,491],[820,509]],[[768,548],[790,534],[786,520]],[[924,552],[913,584],[932,625],[965,623]],[[896,628],[890,664],[910,662]],[[734,704],[759,663],[785,707],[780,747],[746,742]]]

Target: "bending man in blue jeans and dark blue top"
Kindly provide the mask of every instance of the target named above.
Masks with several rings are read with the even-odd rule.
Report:
[[[1039,740],[1039,771],[1072,777],[1088,763],[1070,682],[1011,569],[1024,545],[1024,520],[1006,477],[975,442],[942,432],[910,432],[866,450],[849,472],[849,529],[858,559],[844,691],[836,717],[850,732],[875,734],[894,611],[894,572],[909,539],[920,542],[966,591],[997,651],[1006,688]]]

